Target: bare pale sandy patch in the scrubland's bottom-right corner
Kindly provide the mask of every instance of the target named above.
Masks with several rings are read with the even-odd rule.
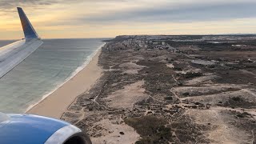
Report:
[[[250,143],[251,139],[243,130],[230,125],[232,117],[221,110],[187,110],[186,114],[195,118],[195,123],[210,123],[212,130],[205,132],[212,143]]]

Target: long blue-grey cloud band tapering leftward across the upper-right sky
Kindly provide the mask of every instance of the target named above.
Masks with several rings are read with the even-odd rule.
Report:
[[[237,18],[255,18],[256,2],[202,2],[154,6],[138,10],[119,10],[80,18],[82,22],[198,22]]]

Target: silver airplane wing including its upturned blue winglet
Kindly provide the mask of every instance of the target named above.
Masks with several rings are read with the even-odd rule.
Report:
[[[42,45],[41,38],[34,30],[22,8],[18,7],[25,38],[0,48],[0,78],[22,62]]]

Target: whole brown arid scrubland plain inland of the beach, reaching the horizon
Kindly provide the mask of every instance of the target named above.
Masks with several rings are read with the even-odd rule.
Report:
[[[256,36],[118,36],[62,114],[93,143],[255,143]]]

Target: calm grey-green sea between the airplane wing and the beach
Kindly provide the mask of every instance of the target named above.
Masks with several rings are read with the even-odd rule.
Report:
[[[82,70],[104,44],[102,40],[43,40],[38,50],[0,78],[0,111],[25,112]],[[0,46],[11,42],[0,41]]]

